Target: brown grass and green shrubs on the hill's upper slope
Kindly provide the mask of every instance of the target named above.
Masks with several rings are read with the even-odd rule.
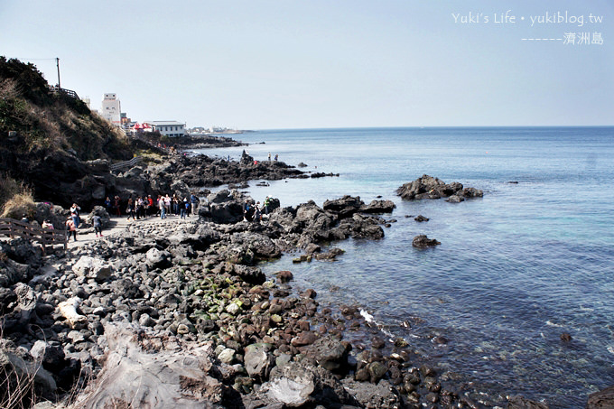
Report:
[[[16,132],[18,153],[35,150],[72,152],[82,161],[132,156],[126,136],[86,104],[52,93],[33,64],[0,57],[0,135]]]

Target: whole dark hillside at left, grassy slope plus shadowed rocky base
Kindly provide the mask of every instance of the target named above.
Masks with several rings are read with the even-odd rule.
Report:
[[[0,184],[15,188],[0,195],[0,213],[23,193],[70,206],[72,192],[89,197],[94,189],[87,161],[133,154],[123,132],[80,99],[53,92],[33,64],[0,57]]]

